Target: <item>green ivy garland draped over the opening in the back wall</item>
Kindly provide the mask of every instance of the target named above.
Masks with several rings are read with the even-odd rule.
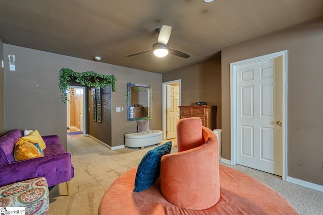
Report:
[[[94,71],[86,71],[85,73],[75,73],[72,69],[63,67],[59,73],[59,88],[62,92],[62,101],[66,103],[68,100],[67,93],[70,91],[68,86],[75,80],[81,85],[88,87],[104,88],[111,85],[112,91],[116,92],[116,77],[114,75],[107,76],[95,73]],[[69,101],[71,102],[71,101]]]

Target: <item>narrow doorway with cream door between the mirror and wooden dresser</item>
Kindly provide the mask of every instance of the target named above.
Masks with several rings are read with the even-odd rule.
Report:
[[[176,138],[180,118],[181,80],[163,83],[163,139]]]

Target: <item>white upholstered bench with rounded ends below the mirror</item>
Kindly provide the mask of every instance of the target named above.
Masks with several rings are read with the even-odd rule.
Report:
[[[125,147],[139,147],[143,149],[145,146],[160,144],[163,140],[161,130],[148,130],[136,133],[125,134]]]

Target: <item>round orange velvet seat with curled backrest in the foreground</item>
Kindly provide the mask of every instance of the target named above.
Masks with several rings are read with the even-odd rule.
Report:
[[[200,119],[179,120],[177,131],[179,152],[161,157],[159,179],[133,192],[137,168],[125,172],[103,195],[99,215],[298,214],[272,188],[219,166],[218,139]]]

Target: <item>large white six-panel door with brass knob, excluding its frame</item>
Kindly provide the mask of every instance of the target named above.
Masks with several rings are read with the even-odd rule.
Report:
[[[282,57],[237,66],[237,164],[282,176]]]

